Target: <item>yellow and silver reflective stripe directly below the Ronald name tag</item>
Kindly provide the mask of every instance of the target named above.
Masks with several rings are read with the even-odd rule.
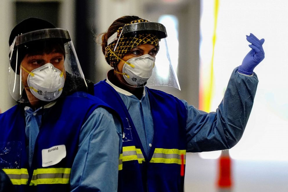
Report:
[[[33,171],[30,185],[68,184],[71,168],[39,168]]]

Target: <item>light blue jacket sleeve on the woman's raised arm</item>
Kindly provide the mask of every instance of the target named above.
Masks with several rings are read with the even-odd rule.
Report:
[[[258,78],[234,69],[216,112],[206,113],[184,103],[187,110],[187,152],[230,149],[241,139],[252,109]]]

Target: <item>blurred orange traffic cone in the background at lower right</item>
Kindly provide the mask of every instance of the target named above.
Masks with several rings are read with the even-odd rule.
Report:
[[[232,161],[229,156],[229,150],[222,150],[218,161],[217,187],[219,192],[232,191],[231,163]]]

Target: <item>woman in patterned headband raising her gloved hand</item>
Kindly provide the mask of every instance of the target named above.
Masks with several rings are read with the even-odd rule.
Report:
[[[145,86],[179,89],[167,47],[161,47],[162,53],[159,49],[159,40],[166,37],[162,24],[124,16],[100,35],[105,59],[114,69],[94,86],[94,94],[123,121],[118,191],[183,191],[186,152],[229,149],[242,137],[258,84],[253,69],[264,58],[264,39],[247,36],[252,50],[234,69],[216,112],[206,113]],[[157,58],[160,53],[167,57]]]

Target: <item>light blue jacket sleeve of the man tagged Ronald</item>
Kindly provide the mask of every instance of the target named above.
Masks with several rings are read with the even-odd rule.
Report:
[[[97,108],[81,128],[72,168],[71,191],[117,191],[121,124],[104,108]]]

